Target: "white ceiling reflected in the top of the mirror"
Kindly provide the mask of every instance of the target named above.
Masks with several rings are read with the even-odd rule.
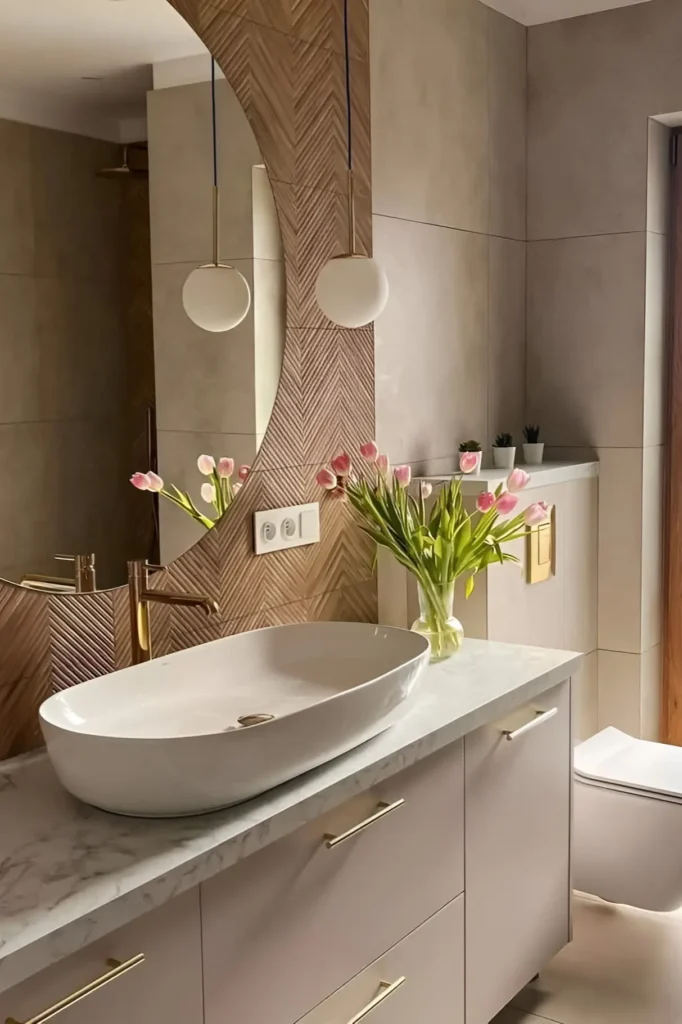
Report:
[[[168,0],[0,0],[0,117],[118,137],[152,65],[206,52]]]

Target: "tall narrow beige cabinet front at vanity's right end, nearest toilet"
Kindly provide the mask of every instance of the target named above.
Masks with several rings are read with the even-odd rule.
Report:
[[[487,1024],[569,940],[570,684],[464,751],[467,1024]]]

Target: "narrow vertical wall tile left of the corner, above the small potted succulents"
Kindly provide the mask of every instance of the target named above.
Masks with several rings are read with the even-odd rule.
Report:
[[[487,434],[522,442],[525,395],[525,243],[491,238]],[[520,447],[519,447],[520,452]]]

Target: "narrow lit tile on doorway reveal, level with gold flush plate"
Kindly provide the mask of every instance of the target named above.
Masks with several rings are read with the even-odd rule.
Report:
[[[664,527],[663,447],[644,449],[642,461],[642,650],[660,643]]]

